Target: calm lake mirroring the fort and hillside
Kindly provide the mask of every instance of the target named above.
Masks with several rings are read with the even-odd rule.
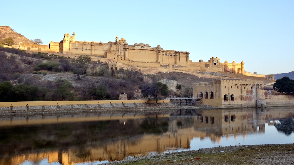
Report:
[[[209,147],[294,143],[293,108],[0,118],[0,164],[90,165]]]

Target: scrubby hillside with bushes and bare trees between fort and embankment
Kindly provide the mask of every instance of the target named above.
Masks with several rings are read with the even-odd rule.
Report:
[[[70,59],[0,47],[0,60],[0,101],[117,100],[119,93],[138,99],[143,98],[142,87],[149,84],[136,68],[109,71],[107,64],[92,62],[85,55]],[[168,92],[165,88],[158,96],[145,96],[160,99]]]

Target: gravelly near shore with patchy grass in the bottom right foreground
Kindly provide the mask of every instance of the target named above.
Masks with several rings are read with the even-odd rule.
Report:
[[[150,154],[112,161],[116,164],[294,164],[294,144],[267,144],[205,148],[193,151]]]

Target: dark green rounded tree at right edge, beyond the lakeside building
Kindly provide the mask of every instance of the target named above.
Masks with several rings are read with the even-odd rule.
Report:
[[[283,77],[281,79],[276,80],[273,85],[274,89],[278,89],[278,92],[285,93],[294,93],[294,80],[291,80],[289,77]]]

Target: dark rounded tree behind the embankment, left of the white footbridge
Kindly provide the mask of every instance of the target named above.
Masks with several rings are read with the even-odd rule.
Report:
[[[156,82],[153,84],[144,85],[141,89],[141,93],[144,97],[153,98],[158,101],[159,96],[168,96],[168,87],[166,84]]]

